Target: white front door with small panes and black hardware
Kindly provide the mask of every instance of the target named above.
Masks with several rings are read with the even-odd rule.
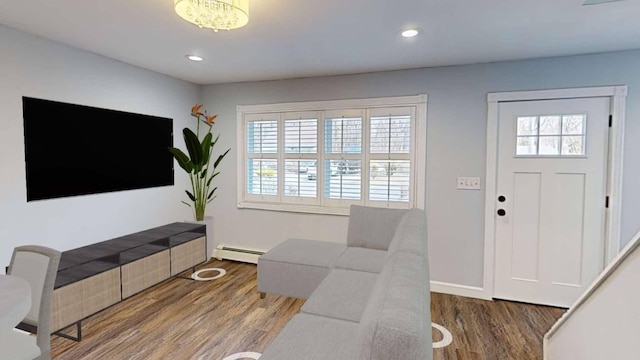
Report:
[[[499,104],[494,297],[569,307],[604,268],[610,98]]]

